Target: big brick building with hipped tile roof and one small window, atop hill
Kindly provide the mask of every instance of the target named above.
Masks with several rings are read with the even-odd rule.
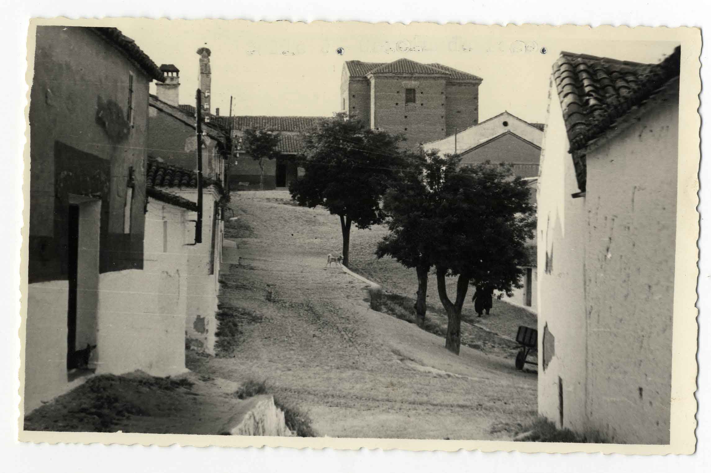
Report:
[[[479,122],[481,81],[439,63],[348,60],[341,74],[340,108],[372,129],[404,134],[404,145],[416,150]]]

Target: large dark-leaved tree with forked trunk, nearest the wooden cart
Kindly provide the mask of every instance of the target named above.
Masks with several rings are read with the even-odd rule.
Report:
[[[460,167],[460,163],[459,156],[441,157],[433,152],[418,176],[422,184],[396,186],[392,192],[400,193],[399,206],[390,204],[395,197],[389,194],[387,198],[387,208],[407,222],[392,239],[405,243],[403,248],[411,241],[424,240],[419,254],[434,266],[437,293],[448,319],[445,347],[455,354],[459,354],[461,308],[469,285],[507,294],[521,287],[520,266],[527,262],[525,243],[533,238],[535,226],[528,186],[513,176],[510,166],[486,162]],[[401,235],[412,233],[417,218],[422,219],[420,235],[400,240]],[[454,301],[447,294],[448,277],[457,278]]]

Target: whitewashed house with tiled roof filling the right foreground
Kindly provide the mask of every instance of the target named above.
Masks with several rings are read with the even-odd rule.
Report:
[[[671,53],[671,51],[670,51]],[[612,442],[670,440],[680,50],[562,53],[538,183],[538,410]]]

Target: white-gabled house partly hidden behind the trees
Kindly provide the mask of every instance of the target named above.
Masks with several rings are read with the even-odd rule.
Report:
[[[462,166],[486,161],[494,165],[506,162],[513,167],[515,176],[528,181],[530,201],[535,204],[543,129],[542,123],[525,122],[509,112],[503,112],[442,139],[423,143],[422,149],[438,149],[442,155],[459,154]],[[527,246],[530,263],[522,268],[524,274],[520,282],[523,287],[514,289],[513,297],[504,300],[536,312],[538,275],[535,238]]]

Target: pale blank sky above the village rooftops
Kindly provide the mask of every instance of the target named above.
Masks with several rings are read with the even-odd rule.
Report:
[[[172,63],[181,70],[181,104],[194,102],[196,51],[210,48],[211,105],[213,113],[215,107],[220,108],[220,115],[229,114],[232,96],[232,115],[331,116],[340,110],[341,72],[346,60],[409,58],[442,63],[483,78],[480,121],[508,110],[528,122],[545,122],[551,66],[560,51],[658,63],[677,46],[654,41],[599,41],[579,31],[573,37],[547,26],[117,22],[156,64]],[[338,48],[342,48],[342,55],[336,52]]]

